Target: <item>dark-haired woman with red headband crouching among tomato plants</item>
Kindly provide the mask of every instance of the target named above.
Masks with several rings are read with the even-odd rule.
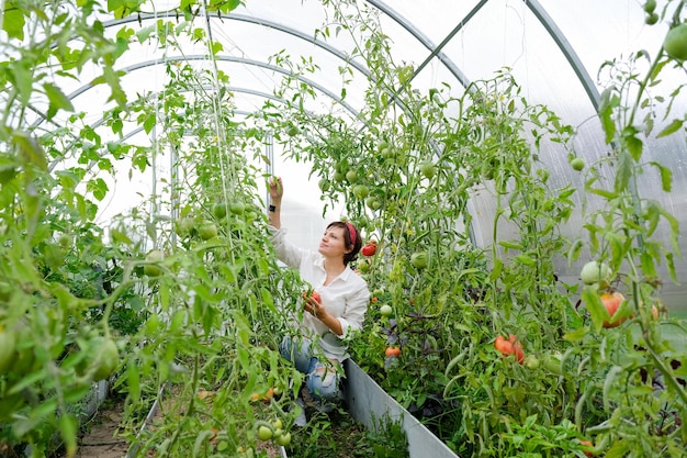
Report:
[[[368,283],[349,267],[362,246],[361,236],[351,223],[337,221],[327,226],[317,253],[290,244],[281,227],[282,179],[271,179],[269,188],[269,230],[277,256],[299,269],[322,298],[318,301],[314,294],[304,300],[307,313],[297,323],[296,335],[284,337],[280,351],[306,375],[305,384],[315,400],[336,399],[340,365],[349,357],[348,340],[362,328],[370,301]]]

